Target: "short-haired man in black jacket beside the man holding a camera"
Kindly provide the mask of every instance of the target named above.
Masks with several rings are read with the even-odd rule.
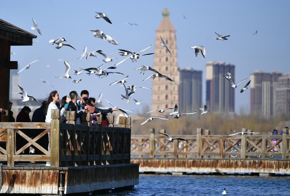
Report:
[[[68,108],[66,111],[75,111],[76,112],[76,124],[81,124],[81,120],[79,117],[81,117],[83,114],[85,114],[86,110],[88,110],[88,106],[85,106],[84,109],[81,109],[81,106],[77,104],[77,100],[79,99],[79,95],[75,90],[70,92],[70,99],[71,101],[68,103]]]

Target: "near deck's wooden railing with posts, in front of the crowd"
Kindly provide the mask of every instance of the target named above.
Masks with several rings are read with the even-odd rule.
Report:
[[[102,115],[97,117],[98,125],[91,126],[89,113],[82,116],[81,125],[76,124],[75,112],[66,112],[66,123],[60,122],[59,110],[51,110],[51,118],[50,123],[0,123],[0,137],[7,134],[6,149],[0,146],[0,161],[8,167],[16,161],[50,161],[51,167],[130,163],[131,118],[119,117],[119,127],[114,127],[114,116],[107,117],[108,127],[102,127]],[[30,138],[22,129],[44,131]],[[47,133],[48,150],[36,143]],[[17,135],[28,141],[18,150]],[[43,154],[22,154],[30,146]]]

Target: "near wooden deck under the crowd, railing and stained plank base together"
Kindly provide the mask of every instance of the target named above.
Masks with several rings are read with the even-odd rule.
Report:
[[[130,163],[131,118],[119,117],[119,127],[114,127],[114,117],[108,116],[108,127],[102,127],[102,116],[99,126],[89,125],[90,114],[81,125],[75,123],[75,112],[66,112],[66,123],[60,123],[59,110],[52,110],[51,117],[51,123],[0,123],[0,193],[64,195],[139,183],[139,164]],[[22,129],[39,134],[30,138]],[[36,142],[46,134],[49,150]],[[18,150],[17,135],[28,141]],[[30,146],[42,154],[22,154]],[[50,167],[40,163],[44,161],[50,161]]]

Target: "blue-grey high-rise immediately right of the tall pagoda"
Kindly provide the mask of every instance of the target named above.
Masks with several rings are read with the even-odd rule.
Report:
[[[202,71],[179,69],[179,111],[189,113],[202,106]]]

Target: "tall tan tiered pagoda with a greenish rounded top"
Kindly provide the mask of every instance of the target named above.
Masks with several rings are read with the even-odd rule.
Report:
[[[160,71],[160,73],[175,80],[176,84],[163,78],[155,78],[153,80],[152,110],[174,107],[178,103],[179,74],[177,67],[176,37],[175,28],[169,19],[169,14],[170,12],[167,8],[162,11],[163,18],[156,29],[153,67]],[[160,36],[166,43],[171,54],[165,47],[160,45]]]

